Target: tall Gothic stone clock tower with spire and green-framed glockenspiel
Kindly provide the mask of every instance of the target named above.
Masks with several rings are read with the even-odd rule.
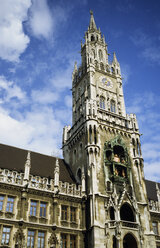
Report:
[[[81,59],[63,155],[87,195],[86,247],[154,248],[138,123],[126,114],[120,64],[115,53],[109,63],[92,12]]]

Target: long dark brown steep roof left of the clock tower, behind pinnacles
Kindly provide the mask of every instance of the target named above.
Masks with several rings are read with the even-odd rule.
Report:
[[[24,172],[28,151],[13,146],[0,144],[0,168]],[[37,152],[31,152],[31,175],[54,178],[56,158]],[[64,159],[59,160],[60,181],[75,183],[69,165]]]

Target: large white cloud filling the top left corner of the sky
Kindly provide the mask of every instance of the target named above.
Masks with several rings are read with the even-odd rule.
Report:
[[[22,25],[30,5],[31,0],[0,1],[0,57],[4,60],[19,61],[30,41]]]

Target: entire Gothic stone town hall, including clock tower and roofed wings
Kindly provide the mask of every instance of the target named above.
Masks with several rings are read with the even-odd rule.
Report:
[[[120,64],[90,14],[64,159],[0,144],[0,247],[160,248],[160,184],[144,178]]]

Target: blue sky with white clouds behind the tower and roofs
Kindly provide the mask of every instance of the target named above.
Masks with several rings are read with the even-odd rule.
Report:
[[[160,181],[160,1],[0,0],[0,142],[61,154],[71,75],[92,9],[136,113],[145,176]]]

